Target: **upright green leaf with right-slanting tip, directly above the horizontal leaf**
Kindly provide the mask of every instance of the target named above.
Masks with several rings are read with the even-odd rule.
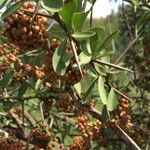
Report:
[[[87,12],[76,12],[72,17],[72,28],[75,32],[81,31],[81,27],[87,18],[89,11]]]

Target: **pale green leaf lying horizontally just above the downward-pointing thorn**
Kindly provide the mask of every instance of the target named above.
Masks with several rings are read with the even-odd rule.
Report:
[[[84,40],[89,39],[93,35],[95,35],[95,32],[85,31],[85,32],[76,32],[72,36],[79,41],[84,41]]]

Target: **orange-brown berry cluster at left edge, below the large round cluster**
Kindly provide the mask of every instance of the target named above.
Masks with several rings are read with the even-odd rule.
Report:
[[[0,45],[0,75],[3,75],[6,70],[11,70],[14,81],[25,80],[27,76],[36,79],[44,77],[44,67],[25,64],[18,58],[19,54],[19,48],[11,43]]]

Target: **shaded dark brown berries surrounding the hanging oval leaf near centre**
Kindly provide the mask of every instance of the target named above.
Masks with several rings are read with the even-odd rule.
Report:
[[[64,76],[58,76],[53,69],[52,66],[52,57],[55,49],[60,45],[61,41],[57,38],[53,38],[50,42],[51,48],[45,53],[45,74],[47,76],[46,81],[50,83],[51,86],[55,86],[58,84],[58,80],[66,81],[69,85],[74,85],[81,80],[81,73],[78,68],[74,68],[75,61],[72,58],[69,66],[67,67],[67,71]],[[71,50],[71,46],[67,43],[66,52],[73,53]],[[83,71],[83,70],[82,70]]]

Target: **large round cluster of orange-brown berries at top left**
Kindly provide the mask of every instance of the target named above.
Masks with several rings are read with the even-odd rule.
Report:
[[[27,10],[27,11],[26,11]],[[35,5],[25,2],[22,7],[4,20],[9,40],[22,49],[39,49],[47,44],[47,18],[42,15],[33,17]],[[44,14],[38,10],[37,14]]]

